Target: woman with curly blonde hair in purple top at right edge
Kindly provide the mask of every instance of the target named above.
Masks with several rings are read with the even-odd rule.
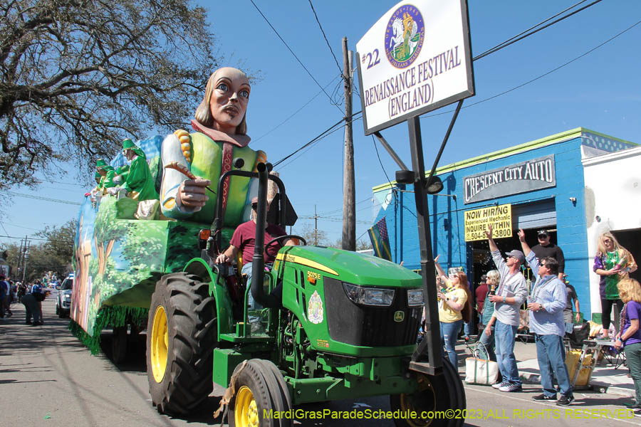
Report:
[[[620,332],[617,334],[615,348],[624,347],[627,367],[635,381],[635,404],[630,406],[635,416],[641,416],[641,285],[635,279],[623,279],[617,283],[623,310],[621,310]]]

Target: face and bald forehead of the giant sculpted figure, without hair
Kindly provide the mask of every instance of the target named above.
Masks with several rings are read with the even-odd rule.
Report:
[[[209,108],[215,130],[229,135],[236,133],[236,127],[247,111],[250,90],[249,80],[241,70],[226,67],[214,73],[214,90]]]

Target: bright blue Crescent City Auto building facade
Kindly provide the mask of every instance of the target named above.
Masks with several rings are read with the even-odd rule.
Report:
[[[593,273],[586,265],[594,254],[588,253],[581,160],[636,145],[580,127],[440,167],[436,174],[444,189],[427,196],[434,256],[440,255],[444,268],[462,267],[470,282],[479,283],[494,263],[486,239],[466,241],[466,212],[509,205],[512,236],[495,235],[497,246],[501,251],[521,249],[518,228],[526,231],[530,246],[538,243],[538,230],[551,233],[552,242],[563,249],[565,273],[577,290],[581,311],[589,318],[593,309],[600,311],[600,307],[590,307],[588,277]],[[529,180],[523,176],[526,174]],[[392,182],[374,187],[372,193],[375,222],[383,217],[387,222],[392,260],[404,261],[407,268],[420,268],[412,186]],[[473,237],[471,233],[469,237]],[[524,274],[531,273],[526,270]]]

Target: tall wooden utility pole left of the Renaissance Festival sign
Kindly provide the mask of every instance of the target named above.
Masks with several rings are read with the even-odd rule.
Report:
[[[354,142],[352,139],[352,56],[343,37],[343,83],[345,83],[345,164],[343,165],[343,249],[356,250],[356,194]]]

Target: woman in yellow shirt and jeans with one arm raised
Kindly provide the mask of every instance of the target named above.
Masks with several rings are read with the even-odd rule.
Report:
[[[457,271],[446,275],[438,263],[439,257],[434,258],[437,273],[441,278],[444,288],[437,290],[439,297],[439,322],[441,325],[441,342],[447,352],[449,362],[458,369],[456,343],[463,321],[469,322],[471,315],[471,298],[467,275]],[[444,356],[445,354],[443,354]]]

